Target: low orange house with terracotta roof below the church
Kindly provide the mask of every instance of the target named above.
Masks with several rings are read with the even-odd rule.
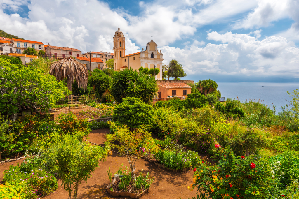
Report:
[[[177,97],[187,97],[188,94],[191,94],[191,88],[184,83],[157,83],[158,98],[167,98],[168,96],[177,96]]]

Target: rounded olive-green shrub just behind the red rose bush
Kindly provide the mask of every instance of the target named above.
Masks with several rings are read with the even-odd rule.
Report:
[[[255,133],[253,130],[248,130],[243,134],[237,134],[234,138],[228,141],[228,145],[236,155],[248,156],[257,154],[259,150],[267,145],[265,139]]]

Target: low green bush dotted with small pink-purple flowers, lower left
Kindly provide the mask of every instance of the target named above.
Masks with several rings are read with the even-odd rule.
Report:
[[[57,179],[54,174],[43,169],[34,169],[23,172],[19,164],[10,166],[4,171],[3,181],[8,183],[24,183],[26,198],[41,198],[49,195],[58,188]]]

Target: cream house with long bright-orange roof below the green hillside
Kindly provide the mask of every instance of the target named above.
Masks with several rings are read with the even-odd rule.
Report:
[[[40,41],[30,41],[25,39],[11,39],[11,42],[13,43],[15,50],[13,53],[23,53],[24,50],[27,48],[34,48],[36,52],[39,50],[44,50],[44,44]]]

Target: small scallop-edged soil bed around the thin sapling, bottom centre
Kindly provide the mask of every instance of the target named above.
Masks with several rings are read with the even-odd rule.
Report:
[[[118,183],[119,183],[120,180],[116,180],[116,179],[113,179],[112,180],[112,186],[111,184],[109,184],[107,186],[107,191],[110,195],[112,196],[127,196],[127,197],[131,197],[131,198],[140,198],[141,196],[143,196],[144,194],[148,193],[149,192],[149,188],[147,189],[144,189],[142,192],[140,193],[132,193],[132,192],[125,192],[123,190],[119,190],[118,189]],[[113,190],[115,191],[111,191],[110,188],[113,188]],[[130,189],[130,186],[127,188],[128,190],[131,190]]]

